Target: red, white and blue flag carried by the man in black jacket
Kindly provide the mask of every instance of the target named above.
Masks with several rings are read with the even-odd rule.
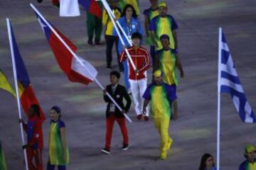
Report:
[[[63,42],[61,42],[55,33],[53,33],[49,26],[51,26],[52,29],[58,33],[60,38],[63,39],[65,44],[68,45],[73,52],[75,52],[77,47],[75,47],[73,42],[68,40],[65,35],[60,33],[60,31],[54,28],[48,21],[41,18],[41,16],[38,15],[39,12],[37,12],[38,11],[36,11],[36,17],[38,18],[38,22],[40,23],[43,32],[46,34],[46,38],[49,42],[50,48],[53,50],[53,54],[55,55],[60,69],[65,72],[70,81],[80,82],[82,84],[89,84],[92,82],[97,77],[97,70],[81,57],[79,57],[79,59],[82,61],[82,64],[78,62],[68,48],[65,47]]]

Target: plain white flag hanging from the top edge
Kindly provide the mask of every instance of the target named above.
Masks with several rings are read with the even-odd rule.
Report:
[[[60,0],[60,16],[80,16],[78,0]]]

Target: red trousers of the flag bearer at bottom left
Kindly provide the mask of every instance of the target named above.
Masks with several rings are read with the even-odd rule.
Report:
[[[32,147],[26,148],[29,170],[43,170],[42,150],[33,149]]]

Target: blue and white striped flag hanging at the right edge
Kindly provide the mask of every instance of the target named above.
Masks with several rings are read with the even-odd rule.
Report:
[[[242,89],[242,84],[228,49],[228,43],[222,31],[220,36],[220,93],[231,95],[234,106],[243,122],[256,123],[255,114],[245,97],[245,92]]]

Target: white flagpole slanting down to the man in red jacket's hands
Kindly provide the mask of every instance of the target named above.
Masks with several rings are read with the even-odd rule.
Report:
[[[117,25],[116,25],[116,23],[115,23],[115,21],[114,21],[114,18],[113,18],[113,16],[112,16],[112,11],[109,11],[109,10],[108,10],[110,7],[107,7],[108,4],[107,4],[107,2],[106,2],[105,0],[101,0],[101,1],[102,1],[103,6],[105,6],[105,9],[107,10],[107,13],[108,13],[109,16],[110,16],[110,19],[111,19],[111,21],[112,21],[112,23],[113,23],[113,25],[114,25],[114,29],[117,31],[117,35],[118,35],[118,37],[119,37],[119,39],[120,39],[122,45],[123,45],[123,46],[126,46],[125,43],[124,43],[124,40],[122,39],[122,35],[120,34],[119,29],[117,28]],[[121,26],[120,26],[120,27],[121,27]],[[126,34],[124,34],[124,35],[126,35]],[[128,42],[129,42],[129,40],[128,40]],[[133,68],[134,71],[135,71],[137,68],[136,68],[134,62],[132,61],[131,55],[129,54],[127,48],[125,48],[124,50],[125,50],[125,52],[126,52],[126,54],[127,54],[127,57],[128,57],[128,59],[129,59],[129,62],[131,62],[131,64],[132,64],[132,68]]]

